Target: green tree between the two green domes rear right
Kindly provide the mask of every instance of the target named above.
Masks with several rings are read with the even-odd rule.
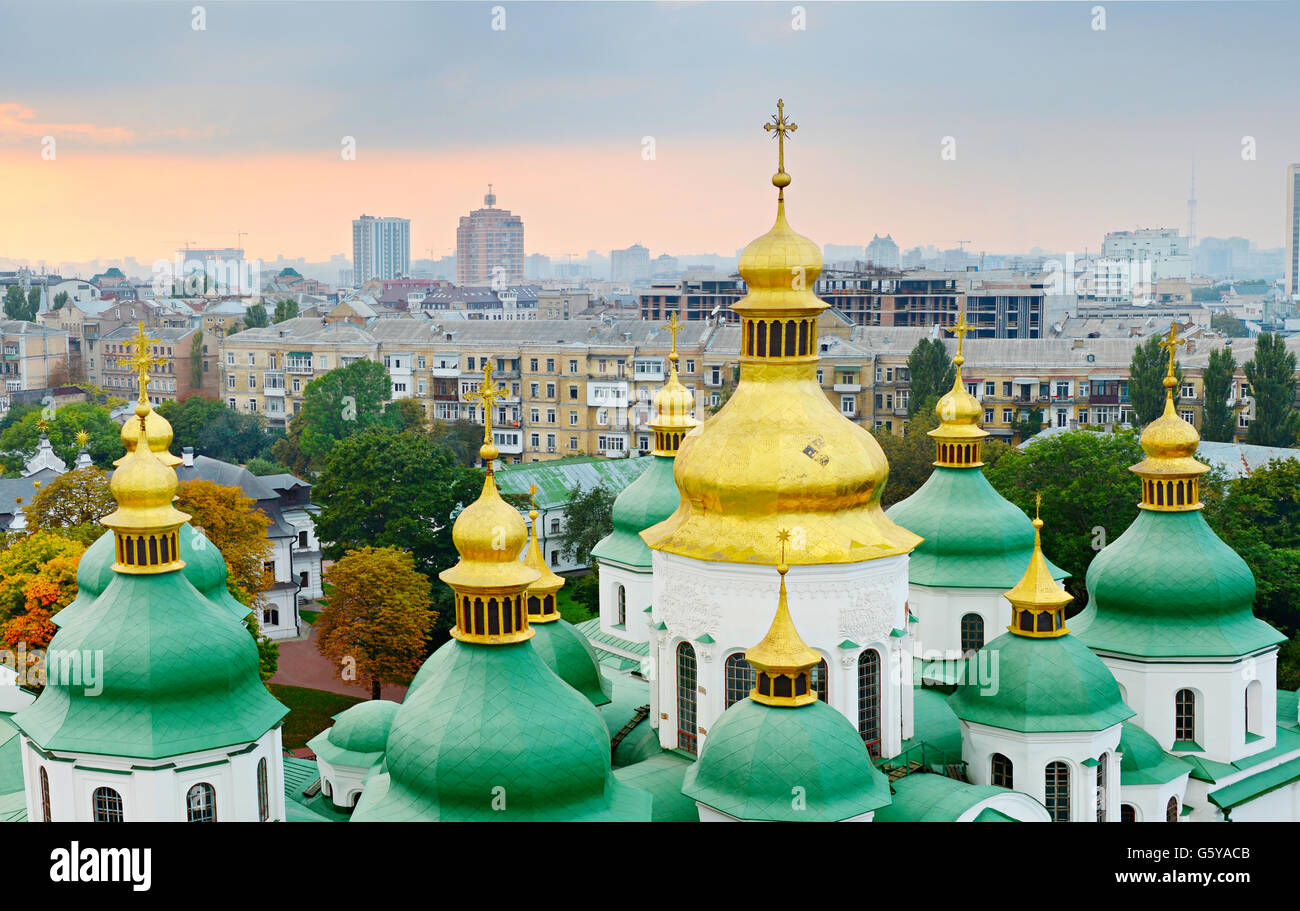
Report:
[[[1087,604],[1084,574],[1092,558],[1138,515],[1141,483],[1128,468],[1144,457],[1132,430],[1069,430],[1009,450],[984,472],[1027,513],[1034,512],[1035,495],[1043,494],[1043,550],[1070,573],[1066,587],[1076,608]]]

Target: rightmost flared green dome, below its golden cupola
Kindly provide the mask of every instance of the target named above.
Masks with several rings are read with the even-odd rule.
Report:
[[[1254,577],[1199,509],[1140,509],[1088,568],[1089,647],[1141,658],[1245,655],[1286,637],[1251,612]]]

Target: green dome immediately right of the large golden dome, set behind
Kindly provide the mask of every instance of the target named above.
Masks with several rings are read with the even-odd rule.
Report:
[[[1034,525],[978,468],[936,467],[915,494],[885,511],[924,541],[911,552],[914,585],[1010,589],[1034,554]],[[1069,573],[1048,563],[1053,578]]]

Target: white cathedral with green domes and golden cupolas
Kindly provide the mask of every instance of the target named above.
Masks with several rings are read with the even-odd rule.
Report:
[[[52,674],[0,715],[4,819],[31,821],[1248,821],[1300,819],[1300,717],[1283,637],[1201,516],[1195,428],[1141,434],[1138,519],[1093,560],[1078,613],[1041,529],[982,470],[982,408],[937,404],[930,480],[889,511],[889,465],[816,381],[816,244],[785,212],[741,255],[740,381],[701,420],[677,374],[650,467],[593,550],[599,617],[563,620],[525,516],[498,491],[455,520],[451,641],[400,704],[339,713],[315,760],[281,750],[247,608],[173,506],[172,430],[143,398],[118,508],[56,616],[101,651],[101,691]],[[142,368],[142,374],[143,374]],[[508,469],[503,469],[508,470]],[[10,799],[13,798],[13,799]]]

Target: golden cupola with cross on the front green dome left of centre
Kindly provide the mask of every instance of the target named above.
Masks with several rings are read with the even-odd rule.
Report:
[[[465,398],[482,403],[484,444],[478,455],[488,474],[478,499],[451,526],[460,560],[438,573],[456,594],[456,625],[451,634],[462,642],[503,645],[533,637],[524,590],[537,581],[538,573],[519,560],[528,529],[519,511],[502,499],[493,469],[500,454],[493,443],[491,412],[504,394],[504,387],[493,382],[491,364],[485,360],[482,385]]]

